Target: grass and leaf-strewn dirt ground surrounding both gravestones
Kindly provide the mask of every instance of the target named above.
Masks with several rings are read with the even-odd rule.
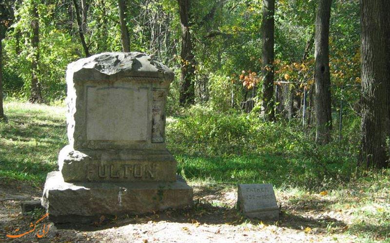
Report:
[[[186,153],[194,144],[175,139],[173,129],[181,132],[175,122],[184,119],[180,117],[168,119],[168,148],[178,161],[178,173],[194,188],[193,208],[102,216],[91,225],[54,225],[44,219],[36,231],[8,238],[16,229],[27,232],[30,222],[44,215],[40,209],[22,215],[20,202],[39,199],[46,174],[57,168],[58,152],[67,144],[65,109],[5,103],[8,123],[0,124],[0,242],[390,242],[389,170],[344,166],[336,170],[338,176],[326,177],[319,175],[325,166],[308,159],[321,154],[305,150],[296,156],[266,150],[229,156]],[[237,183],[273,183],[280,220],[247,219],[237,212]],[[43,224],[49,226],[48,233],[38,238]]]

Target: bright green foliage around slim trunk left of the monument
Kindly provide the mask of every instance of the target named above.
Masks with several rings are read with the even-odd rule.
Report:
[[[37,4],[39,13],[39,49],[31,46],[31,9]],[[65,97],[65,69],[67,64],[78,58],[78,45],[66,30],[56,29],[51,16],[56,11],[54,4],[42,4],[34,0],[23,1],[15,12],[17,21],[5,39],[4,90],[20,97],[30,95],[31,61],[34,52],[39,52],[38,79],[43,97],[47,101]],[[20,87],[21,81],[23,87]]]

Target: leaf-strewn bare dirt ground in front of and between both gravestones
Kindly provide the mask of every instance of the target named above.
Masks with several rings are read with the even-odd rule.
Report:
[[[311,200],[292,204],[290,195],[276,193],[282,205],[277,224],[249,220],[234,209],[236,191],[225,185],[192,185],[195,205],[187,210],[129,217],[101,218],[94,225],[54,225],[42,220],[36,230],[20,238],[6,234],[27,232],[43,212],[23,216],[20,201],[38,199],[39,188],[0,178],[0,242],[354,242],[354,236],[344,232],[348,228],[347,214],[327,211],[329,201]],[[332,229],[329,229],[329,226]],[[48,233],[42,234],[42,229]],[[328,227],[328,229],[327,229]]]

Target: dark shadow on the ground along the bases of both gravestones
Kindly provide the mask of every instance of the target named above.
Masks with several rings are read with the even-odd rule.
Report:
[[[260,219],[246,218],[241,212],[235,208],[234,203],[225,203],[224,206],[216,206],[215,203],[210,202],[209,198],[213,198],[216,201],[224,201],[226,198],[224,195],[227,191],[235,191],[232,187],[215,184],[213,186],[194,186],[194,205],[192,208],[187,209],[168,209],[162,212],[156,212],[146,215],[122,215],[119,217],[104,216],[100,219],[96,219],[91,224],[56,224],[58,229],[77,229],[82,231],[97,231],[101,229],[107,229],[112,227],[126,226],[129,224],[147,224],[150,221],[153,222],[175,222],[175,223],[192,223],[192,224],[207,224],[207,225],[233,225],[238,226],[243,223],[259,225],[261,222],[265,225],[276,225],[282,227],[288,227],[292,229],[302,230],[305,227],[319,229],[319,232],[326,232],[329,225],[343,228],[346,224],[342,221],[338,221],[331,217],[307,217],[303,216],[305,211],[310,211],[313,207],[294,208],[290,210],[288,208],[283,209],[280,213],[280,219],[278,222],[273,221],[261,221]],[[226,201],[226,200],[225,200]],[[322,205],[318,205],[318,202],[314,202],[316,206],[326,207],[331,204],[329,201],[322,200]],[[299,209],[299,210],[298,210]]]

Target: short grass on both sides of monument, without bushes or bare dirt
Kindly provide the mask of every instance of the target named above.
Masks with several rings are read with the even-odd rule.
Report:
[[[0,123],[0,178],[29,181],[39,186],[48,172],[57,170],[59,150],[68,143],[66,108],[15,101],[4,106],[8,123]],[[168,119],[168,123],[177,121]],[[172,129],[175,126],[168,124],[169,134],[180,138],[175,132],[183,130]],[[275,131],[280,132],[271,130],[269,135],[274,136]],[[268,146],[278,142],[265,139],[269,139]],[[390,242],[390,170],[353,172],[350,167],[343,168],[343,163],[335,162],[337,151],[330,153],[331,160],[321,161],[317,155],[327,155],[327,151],[318,152],[321,148],[300,145],[289,147],[291,151],[285,146],[280,150],[223,155],[204,153],[207,148],[200,153],[199,144],[175,140],[175,137],[168,139],[167,146],[178,162],[177,173],[194,188],[232,191],[239,183],[272,183],[278,202],[291,207],[282,207],[288,217],[302,220],[294,210],[315,211],[320,215],[316,219],[317,227],[325,228],[327,234],[348,235],[354,237],[353,242]],[[186,153],[185,148],[192,150]],[[321,162],[328,164],[323,166]],[[337,173],[347,177],[339,177]],[[214,203],[225,207],[223,202]]]

